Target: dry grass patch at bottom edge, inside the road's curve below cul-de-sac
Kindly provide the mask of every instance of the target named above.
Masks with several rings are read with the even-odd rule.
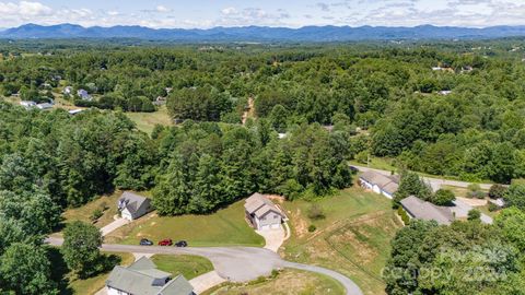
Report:
[[[275,279],[260,279],[248,284],[225,283],[202,293],[202,295],[223,294],[342,295],[345,290],[339,282],[331,278],[312,272],[285,269]]]

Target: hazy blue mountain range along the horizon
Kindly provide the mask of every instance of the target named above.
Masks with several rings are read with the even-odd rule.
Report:
[[[525,26],[485,28],[432,26],[304,26],[301,28],[242,26],[208,30],[150,28],[143,26],[83,27],[74,24],[26,24],[0,31],[0,38],[138,38],[177,42],[349,42],[392,39],[481,39],[525,36]]]

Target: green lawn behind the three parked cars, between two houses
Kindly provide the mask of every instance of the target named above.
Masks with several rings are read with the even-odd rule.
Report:
[[[107,243],[136,245],[141,238],[187,240],[189,246],[255,246],[265,241],[244,220],[244,201],[210,215],[160,217],[155,213],[125,225],[105,237]]]

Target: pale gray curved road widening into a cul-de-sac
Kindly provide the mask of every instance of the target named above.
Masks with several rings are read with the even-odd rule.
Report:
[[[61,246],[63,239],[49,237],[46,243]],[[165,255],[196,255],[208,258],[217,273],[232,282],[253,281],[261,275],[268,276],[275,269],[291,268],[317,272],[337,280],[347,290],[348,295],[362,295],[359,286],[347,276],[320,267],[301,264],[282,260],[276,252],[255,247],[202,247],[177,248],[158,246],[133,246],[103,244],[104,251],[132,252],[132,253],[165,253]]]

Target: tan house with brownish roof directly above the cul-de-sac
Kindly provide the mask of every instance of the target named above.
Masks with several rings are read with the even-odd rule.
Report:
[[[244,204],[246,219],[258,231],[277,229],[285,215],[266,196],[258,192],[252,194]]]

